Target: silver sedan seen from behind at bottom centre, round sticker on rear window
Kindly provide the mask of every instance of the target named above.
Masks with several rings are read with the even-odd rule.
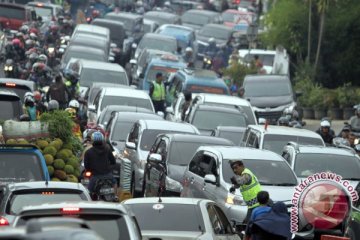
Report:
[[[240,240],[221,208],[193,198],[125,200],[135,214],[144,240]]]

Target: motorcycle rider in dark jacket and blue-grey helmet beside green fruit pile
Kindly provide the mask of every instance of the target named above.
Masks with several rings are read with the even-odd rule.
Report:
[[[116,161],[110,147],[105,143],[104,136],[100,132],[91,135],[92,147],[85,152],[85,170],[92,173],[89,182],[90,193],[94,192],[95,184],[98,179],[110,178],[114,182],[114,192],[117,195],[117,186],[112,174],[112,166]]]

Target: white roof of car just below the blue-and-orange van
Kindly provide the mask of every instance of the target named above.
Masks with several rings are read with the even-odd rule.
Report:
[[[198,93],[195,98],[200,98],[204,103],[219,103],[226,105],[238,105],[238,106],[251,106],[248,100],[235,96],[211,94],[211,93]]]

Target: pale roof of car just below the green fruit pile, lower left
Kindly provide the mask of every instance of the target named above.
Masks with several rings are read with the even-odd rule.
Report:
[[[11,191],[20,190],[36,190],[36,189],[69,189],[69,190],[80,190],[84,191],[86,188],[80,183],[72,182],[57,182],[57,181],[37,181],[37,182],[18,182],[9,183],[7,185]]]

